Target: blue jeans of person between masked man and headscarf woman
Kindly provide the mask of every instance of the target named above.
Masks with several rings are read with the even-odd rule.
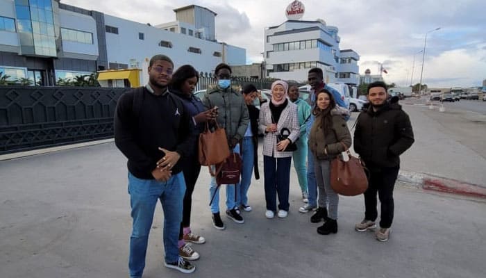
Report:
[[[240,183],[240,190],[237,191],[236,206],[244,204],[248,205],[248,189],[251,184],[251,177],[253,175],[253,163],[255,162],[253,138],[246,136],[242,142],[242,181]]]

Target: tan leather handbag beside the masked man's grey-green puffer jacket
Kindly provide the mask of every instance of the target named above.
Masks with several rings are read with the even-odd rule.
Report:
[[[216,129],[211,132],[206,122],[206,128],[199,134],[199,163],[204,166],[215,165],[223,162],[228,156],[230,148],[226,131],[216,122]]]

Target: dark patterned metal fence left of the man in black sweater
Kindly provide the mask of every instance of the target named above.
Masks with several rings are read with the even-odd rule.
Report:
[[[126,90],[0,86],[0,154],[112,138]]]

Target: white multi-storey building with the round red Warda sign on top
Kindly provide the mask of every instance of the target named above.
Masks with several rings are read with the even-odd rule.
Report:
[[[316,21],[287,20],[265,29],[265,64],[268,77],[306,81],[312,67],[321,67],[324,81],[359,82],[360,56],[351,49],[340,50],[335,26]]]

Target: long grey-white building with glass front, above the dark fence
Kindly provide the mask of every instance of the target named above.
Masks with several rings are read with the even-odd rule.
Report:
[[[155,54],[199,72],[246,63],[245,49],[217,42],[216,13],[199,6],[174,11],[177,29],[167,31],[59,0],[0,0],[0,72],[56,85],[99,70],[141,68]]]

